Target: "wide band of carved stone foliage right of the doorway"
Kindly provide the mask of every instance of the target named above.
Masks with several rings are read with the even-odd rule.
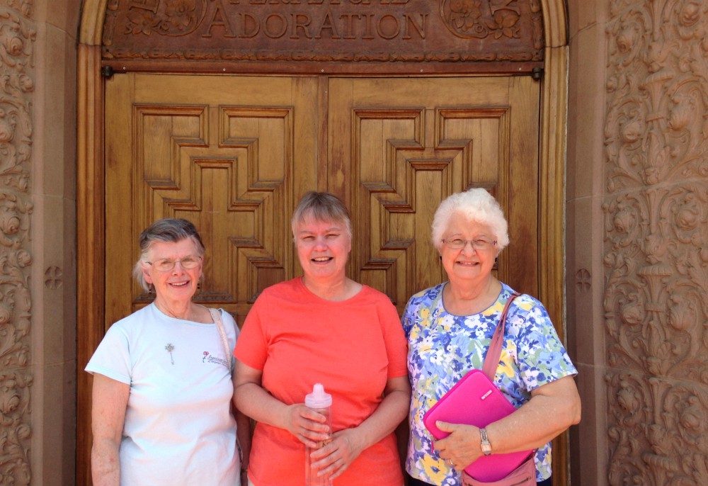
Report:
[[[708,484],[708,4],[609,5],[609,480]]]

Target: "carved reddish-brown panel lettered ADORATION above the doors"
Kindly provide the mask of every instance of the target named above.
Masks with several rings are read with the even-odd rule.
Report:
[[[108,0],[107,60],[539,61],[539,0]]]

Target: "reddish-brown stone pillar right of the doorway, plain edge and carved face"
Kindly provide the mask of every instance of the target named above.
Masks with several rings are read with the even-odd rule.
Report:
[[[569,9],[573,484],[708,484],[708,12]]]

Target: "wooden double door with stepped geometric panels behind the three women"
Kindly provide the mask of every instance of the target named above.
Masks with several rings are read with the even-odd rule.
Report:
[[[243,323],[266,286],[299,274],[290,216],[305,191],[353,218],[348,272],[393,300],[445,279],[430,242],[440,201],[487,188],[511,243],[496,271],[537,295],[539,84],[530,77],[115,74],[105,86],[105,329],[149,302],[139,232],[195,223],[196,300]]]

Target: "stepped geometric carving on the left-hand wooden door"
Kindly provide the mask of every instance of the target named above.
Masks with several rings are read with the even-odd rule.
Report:
[[[285,276],[289,238],[272,222],[287,213],[292,108],[219,106],[214,119],[208,112],[135,106],[138,213],[195,222],[207,251],[227,258],[207,263],[199,300],[252,302],[261,286]],[[212,145],[211,131],[218,135]]]

